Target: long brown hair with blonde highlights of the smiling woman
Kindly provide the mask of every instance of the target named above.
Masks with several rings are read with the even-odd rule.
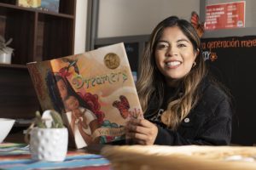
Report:
[[[198,37],[194,27],[187,20],[171,16],[162,20],[154,28],[141,60],[140,75],[137,82],[137,91],[143,111],[147,111],[149,100],[154,99],[157,101],[158,106],[155,108],[155,111],[164,102],[165,77],[160,73],[155,63],[154,53],[156,44],[162,37],[163,31],[168,27],[174,26],[177,26],[189,38],[195,52],[200,49],[200,37]],[[200,97],[198,85],[207,74],[207,69],[201,53],[197,55],[195,62],[195,67],[181,81],[180,87],[183,88],[183,96],[172,100],[167,106],[167,126],[172,129],[177,128],[178,124],[189,114],[189,111],[196,105]]]

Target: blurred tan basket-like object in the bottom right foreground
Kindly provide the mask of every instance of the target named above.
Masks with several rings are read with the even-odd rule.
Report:
[[[256,147],[249,146],[105,146],[102,156],[113,170],[255,170]]]

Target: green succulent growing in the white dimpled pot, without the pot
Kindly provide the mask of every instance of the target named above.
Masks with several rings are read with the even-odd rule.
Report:
[[[51,116],[50,128],[63,128],[65,127],[60,114],[57,111],[50,110],[49,115]],[[39,111],[36,111],[35,125],[39,128],[48,128],[47,118],[41,116]]]

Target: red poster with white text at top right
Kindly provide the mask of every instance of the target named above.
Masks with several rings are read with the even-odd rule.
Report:
[[[206,30],[245,26],[245,1],[218,3],[206,7]]]

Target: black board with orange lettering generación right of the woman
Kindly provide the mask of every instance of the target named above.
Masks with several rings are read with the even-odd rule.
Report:
[[[203,38],[202,54],[215,77],[230,89],[236,111],[233,144],[256,144],[256,36]]]

